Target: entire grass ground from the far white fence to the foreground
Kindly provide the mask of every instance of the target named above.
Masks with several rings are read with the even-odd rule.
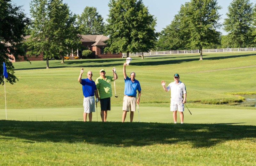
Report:
[[[256,107],[242,103],[256,94],[256,53],[198,59],[198,54],[132,58],[126,72],[136,72],[142,89],[140,122],[136,109],[133,123],[130,113],[127,123],[121,122],[125,59],[51,60],[48,70],[45,61],[14,63],[19,81],[6,83],[7,120],[0,87],[0,165],[256,165]],[[93,72],[93,80],[101,68],[112,76],[116,67],[119,97],[111,97],[106,123],[100,104],[92,122],[83,122],[81,67]],[[174,73],[186,85],[192,113],[185,107],[184,124],[179,117],[173,123],[170,92],[161,86],[161,80],[172,82]]]

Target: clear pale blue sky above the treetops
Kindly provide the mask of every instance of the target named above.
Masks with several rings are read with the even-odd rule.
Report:
[[[12,0],[13,3],[18,6],[23,5],[24,12],[29,16],[29,3],[31,0]],[[148,6],[150,14],[154,15],[156,21],[156,31],[160,32],[169,25],[174,17],[180,10],[180,5],[189,2],[190,0],[143,0],[145,6]],[[228,12],[228,6],[232,0],[217,0],[218,5],[222,7],[219,13],[222,15],[220,22],[226,18]],[[86,6],[93,6],[97,8],[99,14],[104,18],[105,22],[108,17],[108,3],[109,0],[63,0],[64,3],[68,4],[69,10],[75,14],[81,14]],[[251,3],[255,4],[256,0],[251,0]],[[220,29],[222,34],[226,34]]]

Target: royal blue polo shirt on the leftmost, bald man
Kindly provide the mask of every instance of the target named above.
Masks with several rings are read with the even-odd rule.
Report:
[[[82,80],[81,84],[83,87],[84,97],[94,96],[94,90],[96,89],[95,82],[88,78],[81,79],[81,80]]]

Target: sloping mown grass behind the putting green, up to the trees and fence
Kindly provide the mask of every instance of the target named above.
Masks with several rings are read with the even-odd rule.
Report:
[[[256,92],[255,59],[256,54],[252,52],[207,54],[203,61],[198,61],[198,55],[146,57],[144,60],[133,58],[131,65],[127,66],[127,73],[135,71],[136,79],[140,81],[141,106],[168,107],[170,94],[164,92],[160,82],[165,80],[169,84],[173,81],[173,74],[179,73],[180,80],[187,87],[190,107],[216,108],[218,106],[208,104],[228,103],[229,105],[221,105],[221,108],[237,109],[238,106],[230,105],[241,102],[241,98],[232,93]],[[119,76],[116,80],[119,97],[112,98],[112,106],[121,106],[124,62],[122,58],[66,60],[65,64],[60,64],[59,60],[51,60],[52,68],[48,70],[43,67],[45,61],[32,61],[31,64],[16,62],[15,74],[19,81],[14,85],[6,83],[7,109],[81,107],[83,95],[77,81],[81,67],[85,71],[91,70],[95,80],[99,77],[101,68],[106,70],[106,75],[112,75],[114,66]],[[84,74],[83,78],[85,77]],[[0,88],[0,109],[4,109],[4,87]],[[193,103],[197,100],[201,100],[201,104]]]

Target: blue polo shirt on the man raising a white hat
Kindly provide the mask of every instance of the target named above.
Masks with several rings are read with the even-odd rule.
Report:
[[[136,79],[132,82],[131,78],[126,77],[126,79],[124,79],[124,95],[136,96],[136,90],[141,91],[140,82]]]

